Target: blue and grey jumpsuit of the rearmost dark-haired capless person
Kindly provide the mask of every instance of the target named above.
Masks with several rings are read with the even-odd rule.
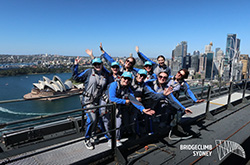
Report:
[[[171,69],[167,65],[160,66],[159,64],[156,64],[154,61],[150,60],[147,56],[145,56],[142,52],[138,52],[138,57],[144,62],[150,61],[153,64],[153,71],[156,75],[158,75],[160,72],[164,71],[168,73],[168,76],[171,75]]]

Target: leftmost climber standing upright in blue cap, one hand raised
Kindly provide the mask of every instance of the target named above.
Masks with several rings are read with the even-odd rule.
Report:
[[[78,63],[81,60],[79,57],[75,59],[73,66],[72,77],[77,82],[83,82],[85,89],[83,92],[83,104],[85,108],[97,106],[100,103],[100,98],[103,91],[109,84],[109,73],[103,68],[103,63],[100,58],[92,60],[93,68],[86,69],[83,72],[78,72]],[[91,143],[90,138],[92,133],[95,133],[99,110],[86,111],[86,132],[85,132],[85,146],[87,149],[94,149],[94,145]]]

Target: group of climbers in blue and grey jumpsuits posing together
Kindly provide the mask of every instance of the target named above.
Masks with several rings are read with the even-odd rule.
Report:
[[[161,127],[170,125],[173,116],[176,113],[181,115],[192,113],[185,108],[179,101],[180,91],[193,102],[199,103],[204,100],[198,100],[184,80],[189,72],[181,69],[175,76],[171,76],[171,69],[165,65],[163,55],[158,56],[158,64],[147,58],[139,51],[136,46],[138,57],[144,63],[144,69],[134,68],[136,63],[133,57],[128,57],[125,62],[115,61],[100,44],[102,52],[101,58],[104,58],[110,67],[110,71],[104,67],[101,58],[95,58],[93,52],[89,49],[86,53],[92,58],[93,68],[78,72],[78,63],[81,58],[77,57],[73,66],[72,77],[78,82],[83,82],[85,90],[83,92],[82,105],[85,108],[91,108],[97,105],[116,103],[116,140],[117,146],[122,145],[120,139],[123,134],[141,135],[144,133],[152,134],[154,132],[152,123],[155,115],[159,114]],[[96,128],[99,124],[110,144],[110,113],[108,109],[86,110],[86,132],[85,146],[88,149],[94,149],[92,137],[96,136]],[[140,121],[146,123],[143,127]],[[178,119],[179,120],[179,119]],[[123,126],[123,127],[122,127]]]

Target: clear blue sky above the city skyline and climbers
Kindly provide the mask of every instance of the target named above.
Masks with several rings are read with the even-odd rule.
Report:
[[[227,34],[250,54],[249,0],[0,0],[0,54],[148,57],[187,41],[188,53],[225,52]]]

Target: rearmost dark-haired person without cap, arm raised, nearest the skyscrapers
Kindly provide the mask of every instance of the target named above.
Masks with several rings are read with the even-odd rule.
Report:
[[[138,57],[145,63],[146,61],[150,61],[153,65],[153,72],[158,75],[161,71],[167,72],[167,74],[171,75],[171,69],[165,64],[165,57],[163,55],[159,55],[157,57],[156,64],[154,61],[150,60],[146,55],[144,55],[142,52],[139,51],[139,47],[136,46],[135,50],[138,54]]]

